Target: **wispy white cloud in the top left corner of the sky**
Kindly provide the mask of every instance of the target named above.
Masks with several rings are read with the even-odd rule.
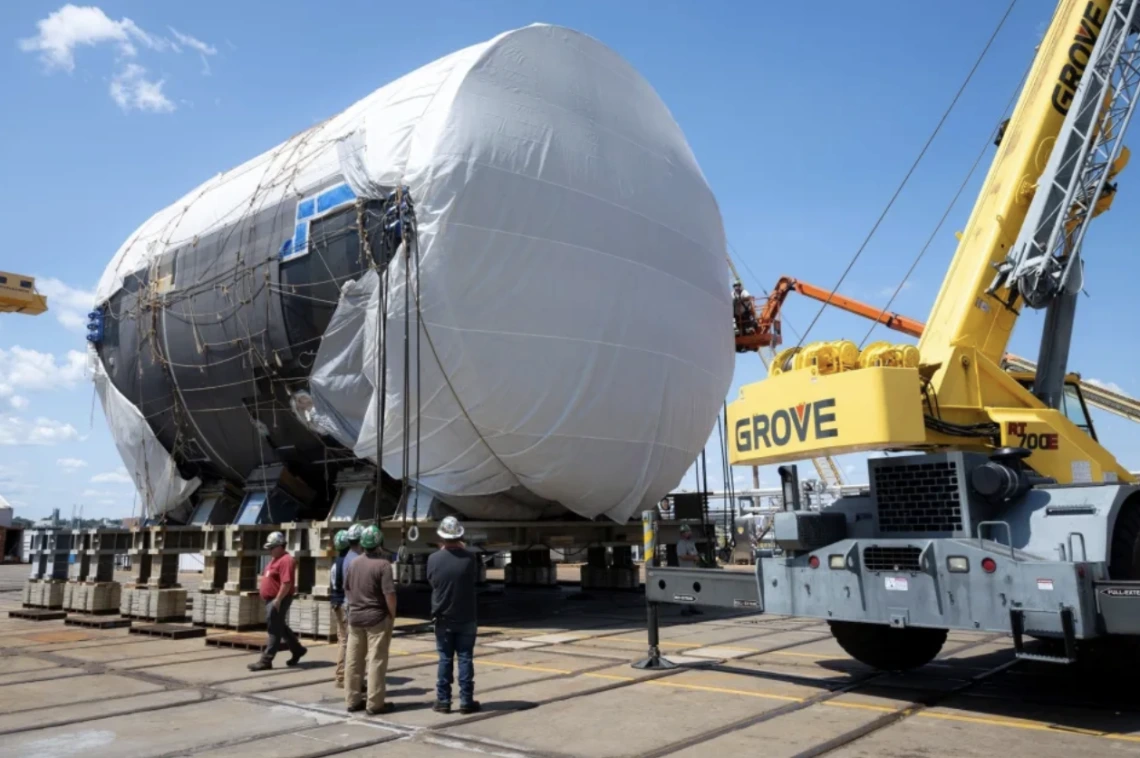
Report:
[[[65,5],[36,22],[36,34],[19,40],[25,52],[39,52],[47,70],[75,71],[75,51],[80,47],[114,47],[119,54],[117,71],[111,79],[111,97],[124,111],[138,109],[149,113],[169,113],[174,104],[163,92],[165,80],[147,76],[147,70],[129,59],[139,57],[139,48],[154,52],[182,52],[186,48],[198,54],[202,73],[210,73],[209,56],[218,54],[218,48],[196,36],[184,34],[171,27],[174,35],[152,34],[125,16],[115,21],[96,6]],[[68,317],[71,323],[74,319]]]

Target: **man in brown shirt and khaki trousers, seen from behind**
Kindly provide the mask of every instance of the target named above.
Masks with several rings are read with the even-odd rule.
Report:
[[[392,642],[392,622],[396,620],[396,581],[392,579],[392,564],[377,553],[382,543],[383,536],[376,527],[365,529],[360,546],[366,552],[352,561],[344,572],[344,596],[349,609],[344,704],[349,711],[367,708],[369,716],[392,710],[392,703],[385,702],[384,678],[388,676],[388,646]],[[366,670],[367,702],[364,696]]]

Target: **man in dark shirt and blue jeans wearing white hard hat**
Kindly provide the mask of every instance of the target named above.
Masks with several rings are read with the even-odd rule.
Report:
[[[455,516],[443,519],[435,533],[443,545],[427,559],[431,616],[435,622],[435,651],[439,653],[433,710],[440,714],[451,711],[453,669],[458,658],[459,712],[474,714],[479,710],[479,702],[474,699],[479,560],[463,546],[463,524]]]

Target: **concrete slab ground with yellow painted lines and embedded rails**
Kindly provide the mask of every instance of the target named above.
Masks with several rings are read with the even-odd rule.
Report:
[[[1026,663],[1000,635],[953,633],[931,665],[887,675],[823,622],[666,609],[661,647],[683,665],[643,671],[629,666],[645,651],[642,597],[492,590],[475,658],[484,711],[431,710],[434,644],[407,619],[389,667],[396,710],[376,718],[345,712],[335,645],[253,674],[255,653],[202,638],[9,619],[24,576],[0,567],[0,758],[1140,756],[1131,660]]]

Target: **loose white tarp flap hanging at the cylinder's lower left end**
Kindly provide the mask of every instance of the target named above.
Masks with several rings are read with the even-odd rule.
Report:
[[[149,517],[184,505],[201,482],[178,473],[174,459],[150,431],[142,413],[115,388],[103,365],[95,360],[95,391],[103,404],[107,427],[127,472]]]

